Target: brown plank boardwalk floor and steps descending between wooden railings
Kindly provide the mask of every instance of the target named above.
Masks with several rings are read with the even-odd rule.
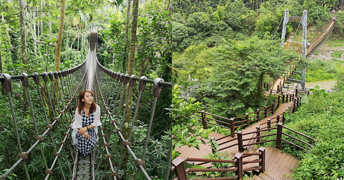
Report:
[[[290,108],[292,102],[289,103],[284,103],[284,104],[280,104],[280,106],[278,107],[278,109],[276,110],[276,112],[273,115],[270,115],[267,118],[262,119],[259,122],[256,122],[253,125],[250,125],[249,127],[241,130],[243,133],[248,133],[248,132],[252,132],[252,131],[256,131],[256,126],[260,125],[260,129],[266,128],[268,127],[268,118],[273,119],[275,117],[277,117],[277,114],[282,114],[283,111],[286,111],[288,108]],[[282,119],[280,119],[282,120]],[[271,120],[271,127],[273,127],[274,125],[276,125],[276,119]],[[252,137],[252,134],[248,134],[248,135],[243,135],[243,139],[247,139]],[[216,132],[212,132],[210,134],[210,136],[215,137],[215,139],[219,139],[220,137],[224,137],[225,135],[223,134],[219,134]],[[226,137],[222,140],[217,141],[218,144],[222,143],[222,142],[226,142],[229,140],[232,140],[232,137]],[[203,158],[203,156],[208,155],[209,153],[212,152],[212,149],[209,146],[209,140],[205,140],[206,144],[200,144],[200,150],[194,148],[194,147],[189,147],[189,146],[183,146],[183,147],[176,147],[175,150],[178,151],[179,153],[181,153],[180,157],[184,158],[184,157],[190,157],[190,158]],[[249,141],[244,141],[243,144],[249,144],[249,143],[254,143],[254,140],[251,140],[251,142]],[[226,144],[222,144],[219,146],[219,149],[230,146],[232,144],[236,144],[236,141],[232,141]],[[257,152],[257,148],[254,147],[254,145],[249,146],[247,151],[245,150],[244,152]],[[266,153],[266,170],[273,173],[276,177],[279,177],[282,180],[287,179],[287,177],[283,177],[284,174],[290,175],[290,168],[295,168],[296,166],[296,158],[287,154],[287,153],[281,153],[281,151],[279,149],[276,149],[274,147],[270,147],[267,146],[265,149],[265,153]],[[233,158],[234,155],[238,152],[238,146],[233,146],[233,147],[229,147],[226,149],[223,149],[222,151],[220,151],[222,153],[226,153],[227,157],[229,158]],[[257,158],[257,156],[250,156],[250,157],[246,157],[243,160],[251,160],[249,158]],[[255,167],[257,166],[258,163],[256,164],[247,164],[245,165],[244,168],[249,168],[250,167]],[[207,163],[202,165],[204,167],[210,167],[211,163]]]

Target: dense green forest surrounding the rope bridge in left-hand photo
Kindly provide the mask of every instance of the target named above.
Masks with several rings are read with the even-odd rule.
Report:
[[[62,0],[62,1],[2,1],[0,24],[0,73],[19,75],[22,72],[33,74],[49,71],[58,71],[75,67],[82,63],[88,53],[89,33],[98,33],[97,58],[105,67],[120,73],[146,76],[148,79],[162,78],[171,82],[172,53],[170,44],[171,9],[168,0]],[[134,9],[138,15],[134,15]],[[23,20],[23,21],[20,21]],[[132,28],[135,26],[135,28]],[[136,31],[136,38],[132,39],[131,31]],[[134,50],[130,53],[130,45]],[[25,55],[26,54],[26,55]],[[131,57],[130,57],[131,56]],[[31,81],[31,80],[30,80]],[[34,127],[31,119],[27,99],[22,96],[21,83],[12,82],[12,96],[15,106],[15,116],[21,130],[23,149],[28,149],[34,143]],[[35,86],[30,82],[30,86]],[[50,86],[50,85],[48,85]],[[56,87],[56,82],[55,82]],[[42,91],[46,93],[44,84]],[[49,87],[48,87],[49,89]],[[9,111],[9,103],[1,87],[0,121],[0,170],[6,172],[17,160],[17,141],[11,138],[14,134],[13,122]],[[24,90],[25,91],[25,90]],[[31,92],[36,119],[44,118],[37,92]],[[51,92],[50,92],[51,93]],[[46,94],[45,94],[46,95]],[[44,103],[47,103],[44,95]],[[50,94],[52,95],[52,94]],[[131,96],[131,95],[130,95]],[[133,94],[132,98],[137,98]],[[142,93],[140,108],[135,124],[135,135],[131,142],[137,144],[136,154],[142,154],[144,138],[150,112],[152,109],[152,84],[147,84],[145,93]],[[171,104],[171,91],[166,88],[160,95],[155,109],[148,150],[146,151],[146,168],[153,179],[162,179],[165,176],[166,158],[170,146],[169,128],[171,121],[166,115]],[[135,106],[128,106],[134,108]],[[46,111],[52,113],[51,109]],[[57,110],[56,110],[57,111]],[[130,111],[129,111],[130,112]],[[120,115],[121,116],[121,115]],[[52,118],[52,117],[50,117]],[[130,118],[130,117],[129,117]],[[52,119],[50,119],[52,120]],[[106,122],[111,121],[106,119]],[[105,122],[105,123],[106,123]],[[38,124],[39,129],[45,129],[45,122]],[[58,124],[62,128],[62,124]],[[57,135],[55,131],[53,136]],[[60,142],[54,142],[59,144]],[[110,139],[110,144],[117,144],[117,139]],[[10,147],[10,148],[8,148]],[[47,139],[43,145],[47,163],[54,160],[52,142]],[[38,152],[39,153],[39,152]],[[114,157],[123,156],[120,146],[111,149]],[[5,155],[6,154],[6,155]],[[37,152],[29,155],[26,166],[30,179],[44,179],[44,160]],[[61,161],[61,167],[66,177],[70,177],[67,163],[73,165],[71,155],[68,161]],[[128,158],[128,156],[126,156]],[[115,158],[114,158],[115,159]],[[119,177],[132,179],[137,168],[132,157],[120,164],[120,158],[114,162]],[[107,162],[107,161],[105,161]],[[56,166],[55,166],[56,167]],[[100,166],[96,179],[102,174],[110,176],[109,163]],[[60,167],[58,167],[60,168]],[[21,179],[25,177],[22,164],[15,168],[7,178]],[[50,179],[62,179],[56,171]],[[143,178],[143,174],[138,177]],[[137,178],[137,177],[136,177]]]

